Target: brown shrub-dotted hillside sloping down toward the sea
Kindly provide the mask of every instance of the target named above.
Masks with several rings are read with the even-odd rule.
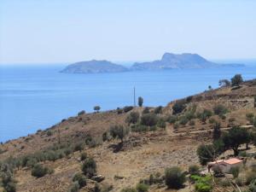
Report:
[[[185,171],[191,165],[199,165],[196,149],[201,143],[212,142],[212,119],[220,123],[222,131],[228,131],[233,125],[244,129],[253,127],[247,114],[256,114],[254,96],[256,79],[239,86],[207,90],[170,102],[164,108],[125,107],[100,113],[80,112],[47,130],[1,144],[0,161],[19,165],[13,171],[17,191],[64,192],[73,185],[73,175],[81,172],[80,156],[86,153],[96,160],[97,176],[104,179],[100,182],[87,179],[87,185],[79,191],[95,191],[99,185],[102,191],[119,192],[136,186],[150,174],[162,177],[166,167],[179,166]],[[177,103],[182,107],[175,111]],[[211,114],[204,119],[206,110]],[[139,115],[138,123],[133,121],[135,113]],[[114,125],[129,128],[123,143],[111,137],[110,127],[118,129]],[[252,144],[250,147],[250,152],[256,152]],[[226,154],[231,154],[231,150]],[[54,172],[33,177],[32,166],[34,160],[39,159],[41,165]],[[149,191],[177,190],[155,183]],[[189,191],[189,184],[178,191]]]

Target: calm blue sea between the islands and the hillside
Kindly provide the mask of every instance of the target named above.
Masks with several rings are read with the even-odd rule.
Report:
[[[79,111],[102,110],[133,104],[143,96],[147,106],[218,87],[219,79],[241,73],[256,78],[256,67],[168,70],[102,74],[59,73],[63,66],[0,67],[0,141],[45,129]]]

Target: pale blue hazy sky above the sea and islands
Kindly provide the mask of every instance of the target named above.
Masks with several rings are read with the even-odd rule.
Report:
[[[254,0],[0,0],[0,63],[256,58]]]

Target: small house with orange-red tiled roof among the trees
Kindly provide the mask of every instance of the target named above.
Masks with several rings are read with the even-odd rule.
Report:
[[[208,172],[214,170],[215,168],[218,168],[218,170],[223,173],[229,173],[231,168],[241,167],[242,165],[242,160],[239,160],[237,158],[232,158],[229,160],[216,160],[208,163]]]

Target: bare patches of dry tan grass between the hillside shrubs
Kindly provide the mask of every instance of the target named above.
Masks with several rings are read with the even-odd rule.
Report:
[[[236,118],[236,124],[246,125],[245,114],[248,112],[256,113],[253,108],[253,96],[256,96],[256,84],[254,81],[242,84],[241,89],[231,90],[230,88],[219,88],[199,95],[193,96],[191,103],[198,106],[198,110],[210,108],[223,103],[230,109],[227,119],[218,119],[222,122],[222,127],[228,125],[230,117]],[[172,105],[169,103],[164,109],[164,114],[172,113]],[[191,103],[188,104],[191,105]],[[142,111],[142,108],[134,110]],[[99,137],[103,131],[107,131],[110,125],[125,124],[127,113],[118,114],[115,110],[103,113],[88,113],[77,117],[72,117],[50,128],[53,131],[52,136],[47,136],[46,131],[38,131],[28,137],[4,143],[1,148],[7,150],[0,154],[0,160],[13,155],[29,154],[58,141],[58,130],[61,135],[61,143],[66,141],[76,142],[84,139],[86,135]],[[119,191],[125,186],[135,185],[139,179],[148,177],[153,172],[163,172],[166,166],[187,167],[197,163],[195,150],[202,141],[209,141],[209,132],[199,132],[189,134],[189,131],[201,131],[211,129],[211,125],[201,124],[195,120],[195,125],[184,125],[178,129],[178,132],[188,132],[185,135],[179,135],[173,131],[172,125],[167,125],[166,131],[150,131],[143,134],[131,133],[127,138],[132,141],[125,148],[125,151],[113,153],[109,148],[111,141],[103,143],[96,148],[85,149],[86,153],[96,159],[98,172],[106,177],[103,183],[113,185],[113,191]],[[136,147],[132,144],[137,143]],[[31,170],[22,169],[15,172],[15,178],[18,181],[18,191],[67,191],[72,183],[72,176],[80,170],[78,160],[79,152],[73,154],[69,159],[63,158],[55,162],[46,162],[46,164],[55,169],[55,173],[49,176],[36,179],[31,176]],[[114,179],[114,176],[122,176],[123,179]],[[90,186],[93,183],[89,184]],[[160,189],[161,190],[161,189]],[[158,190],[158,191],[160,191]],[[81,191],[87,191],[86,188]],[[155,189],[153,190],[155,191]]]

